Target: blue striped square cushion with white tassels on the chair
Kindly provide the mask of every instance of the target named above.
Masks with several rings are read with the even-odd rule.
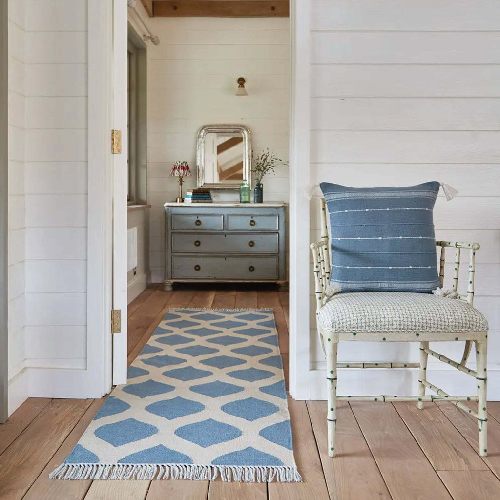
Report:
[[[330,283],[342,291],[440,286],[432,209],[439,182],[346,187],[321,182],[330,216]]]

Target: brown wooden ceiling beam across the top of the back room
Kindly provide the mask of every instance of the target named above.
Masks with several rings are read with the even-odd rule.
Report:
[[[288,0],[154,0],[152,4],[154,17],[289,16]]]

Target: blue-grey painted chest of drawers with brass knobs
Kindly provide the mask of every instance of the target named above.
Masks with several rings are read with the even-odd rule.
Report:
[[[165,203],[165,280],[285,286],[285,203]]]

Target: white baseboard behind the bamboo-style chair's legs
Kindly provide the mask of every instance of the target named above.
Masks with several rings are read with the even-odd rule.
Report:
[[[500,401],[500,367],[488,369],[488,400]],[[427,380],[448,394],[475,395],[476,383],[471,376],[455,368],[427,367]],[[309,399],[326,399],[326,373],[309,371]],[[338,395],[415,395],[418,368],[339,368]],[[433,394],[427,389],[426,394]]]

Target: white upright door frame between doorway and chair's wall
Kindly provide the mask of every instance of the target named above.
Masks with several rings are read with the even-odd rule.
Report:
[[[290,394],[309,399],[310,0],[290,1]],[[305,284],[304,284],[305,283]]]

